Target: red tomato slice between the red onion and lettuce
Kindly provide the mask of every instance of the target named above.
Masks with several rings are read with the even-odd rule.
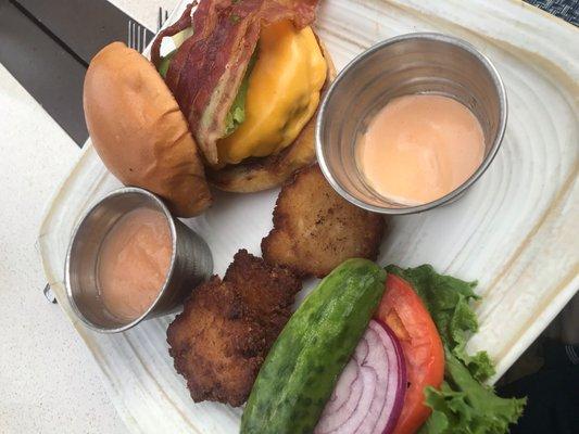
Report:
[[[408,388],[393,434],[412,434],[430,416],[424,388],[439,387],[444,376],[444,349],[437,327],[420,297],[404,279],[388,275],[375,317],[399,339],[406,359]]]

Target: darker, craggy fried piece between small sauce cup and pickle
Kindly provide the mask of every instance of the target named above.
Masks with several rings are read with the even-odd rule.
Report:
[[[167,343],[196,403],[246,401],[300,289],[288,269],[241,250],[223,280],[214,276],[193,290],[167,329]]]

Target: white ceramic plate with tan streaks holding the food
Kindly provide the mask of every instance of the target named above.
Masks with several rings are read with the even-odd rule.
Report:
[[[579,286],[579,30],[519,1],[487,0],[330,0],[319,8],[316,26],[338,68],[379,40],[419,30],[464,38],[499,68],[509,113],[498,157],[458,202],[392,219],[379,259],[404,267],[430,263],[478,279],[480,331],[469,348],[489,350],[498,378]],[[95,355],[131,432],[237,432],[239,409],[193,404],[173,370],[165,342],[172,317],[100,335],[75,320],[66,304],[63,270],[72,229],[91,203],[118,186],[86,145],[40,230],[45,270],[59,303]],[[211,246],[215,272],[224,272],[238,248],[260,254],[276,196],[217,194],[213,208],[187,220]]]

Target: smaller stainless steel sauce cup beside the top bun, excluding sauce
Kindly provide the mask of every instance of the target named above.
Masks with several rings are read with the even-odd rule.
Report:
[[[99,251],[118,219],[141,207],[159,210],[166,217],[173,253],[167,277],[153,304],[140,317],[124,321],[109,312],[100,296]],[[127,187],[113,191],[92,206],[74,231],[66,255],[66,295],[85,324],[99,332],[116,333],[142,320],[172,312],[212,272],[213,258],[207,244],[174,218],[160,197],[147,190]]]

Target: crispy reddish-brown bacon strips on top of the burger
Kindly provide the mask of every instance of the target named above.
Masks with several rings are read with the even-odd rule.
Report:
[[[298,28],[305,27],[314,21],[316,5],[317,0],[202,0],[192,18],[190,4],[158,36],[152,47],[155,65],[162,38],[193,26],[193,36],[171,62],[166,84],[210,164],[218,163],[216,142],[262,26],[291,20]]]

